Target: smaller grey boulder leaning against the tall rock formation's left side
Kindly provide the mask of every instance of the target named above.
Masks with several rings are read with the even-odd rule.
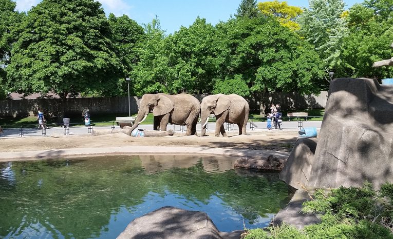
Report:
[[[295,146],[279,174],[280,180],[295,189],[300,189],[301,185],[308,185],[316,143],[316,138],[297,138]]]

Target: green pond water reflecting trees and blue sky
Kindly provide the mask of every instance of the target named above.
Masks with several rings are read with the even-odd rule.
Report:
[[[290,199],[275,173],[212,156],[0,163],[0,238],[116,238],[163,206],[207,212],[221,231],[267,226]]]

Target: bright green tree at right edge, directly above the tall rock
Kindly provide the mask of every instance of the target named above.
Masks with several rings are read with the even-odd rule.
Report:
[[[355,4],[345,18],[350,34],[341,45],[343,64],[336,69],[344,77],[384,78],[393,74],[388,67],[373,68],[372,63],[390,58],[393,50],[393,17],[385,9],[393,9],[393,1],[375,0]]]

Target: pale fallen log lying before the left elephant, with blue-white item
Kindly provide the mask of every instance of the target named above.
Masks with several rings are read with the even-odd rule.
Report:
[[[125,133],[133,137],[163,137],[163,136],[175,134],[175,131],[173,131],[172,129],[167,131],[144,130],[144,129],[131,130],[131,129],[132,128],[129,126],[124,126],[120,130],[100,130],[100,131],[91,130],[91,135],[98,136],[98,135],[105,135],[105,134]]]

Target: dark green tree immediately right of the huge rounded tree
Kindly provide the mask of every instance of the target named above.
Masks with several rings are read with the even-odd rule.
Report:
[[[123,64],[122,78],[128,76],[139,61],[136,44],[142,41],[144,30],[127,15],[116,17],[113,13],[108,17],[113,34],[112,41],[117,46],[118,56]]]

